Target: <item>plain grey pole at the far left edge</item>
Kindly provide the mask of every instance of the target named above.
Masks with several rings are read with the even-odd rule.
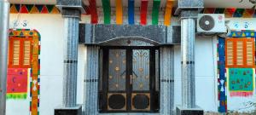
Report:
[[[6,78],[9,38],[9,2],[0,1],[0,115],[6,112]]]

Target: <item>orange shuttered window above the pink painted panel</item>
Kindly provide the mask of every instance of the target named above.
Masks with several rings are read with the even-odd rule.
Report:
[[[29,68],[32,59],[32,37],[9,38],[9,68]]]

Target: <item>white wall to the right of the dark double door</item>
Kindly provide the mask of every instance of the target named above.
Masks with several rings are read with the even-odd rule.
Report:
[[[231,18],[230,30],[256,30],[256,19]],[[175,22],[177,24],[177,21]],[[175,105],[181,104],[181,49],[175,46]],[[218,81],[217,81],[217,37],[195,38],[195,92],[196,104],[206,111],[218,112]],[[256,101],[256,89],[253,96],[230,97],[227,91],[227,106],[230,111],[247,112],[252,107],[247,103]]]

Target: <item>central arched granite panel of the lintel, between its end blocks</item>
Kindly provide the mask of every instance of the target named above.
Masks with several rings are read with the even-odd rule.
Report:
[[[118,37],[145,37],[157,43],[166,43],[166,26],[97,25],[94,31],[94,43]]]

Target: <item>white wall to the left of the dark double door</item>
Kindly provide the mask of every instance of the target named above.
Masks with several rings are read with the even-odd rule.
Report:
[[[10,28],[36,29],[41,35],[40,115],[53,115],[62,102],[63,24],[61,14],[10,14]],[[78,103],[83,102],[84,46],[79,45]],[[26,100],[8,100],[7,115],[29,114],[29,92]]]

